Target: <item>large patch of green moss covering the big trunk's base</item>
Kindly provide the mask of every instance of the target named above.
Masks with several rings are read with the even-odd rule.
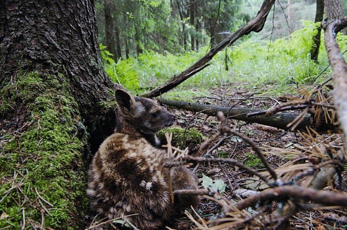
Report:
[[[0,100],[0,113],[23,102],[28,109],[24,127],[0,137],[0,229],[20,229],[23,214],[26,229],[40,227],[42,215],[45,228],[78,228],[88,203],[82,160],[88,137],[63,76],[17,75]]]

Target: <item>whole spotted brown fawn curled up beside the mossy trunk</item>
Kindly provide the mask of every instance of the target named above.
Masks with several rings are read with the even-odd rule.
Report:
[[[173,124],[172,113],[124,90],[116,90],[116,101],[116,132],[100,145],[88,172],[91,207],[110,219],[124,217],[141,230],[156,230],[181,207],[198,201],[195,196],[175,197],[172,205],[169,173],[174,190],[197,188],[196,177],[184,166],[170,172],[163,167],[166,151],[158,148],[155,133]]]

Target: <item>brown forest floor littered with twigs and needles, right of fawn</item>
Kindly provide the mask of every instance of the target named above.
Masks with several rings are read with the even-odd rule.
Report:
[[[271,108],[276,102],[281,100],[281,98],[278,97],[257,96],[257,94],[247,92],[246,90],[237,91],[235,89],[235,85],[223,88],[215,88],[211,90],[211,96],[199,97],[195,98],[195,100],[199,103],[208,103],[221,106],[232,106],[236,104],[237,107],[260,109],[263,108],[264,110]],[[189,127],[195,128],[200,131],[204,135],[205,140],[212,135],[217,134],[220,129],[220,122],[216,117],[208,117],[207,115],[201,113],[196,115],[196,113],[193,112],[172,108],[170,110],[175,113],[177,117],[177,126],[186,128],[187,124],[189,124]],[[296,113],[299,114],[299,112],[297,111]],[[325,134],[322,136],[313,135],[315,136],[315,138],[313,138],[312,133],[305,134],[289,132],[258,124],[247,124],[246,122],[236,120],[229,120],[228,126],[257,143],[262,152],[265,153],[264,155],[269,164],[276,170],[276,172],[284,182],[290,181],[290,179],[293,178],[294,175],[302,172],[302,169],[304,167],[309,167],[317,164],[315,160],[320,159],[319,157],[315,156],[316,153],[312,153],[310,152],[310,150],[303,150],[304,148],[312,149],[318,146],[317,148],[319,149],[322,148],[322,145],[324,145],[324,141],[331,143],[333,140],[336,141],[334,145],[341,147],[344,144],[343,141],[340,141],[340,134]],[[221,138],[225,138],[222,143],[220,142]],[[217,147],[215,145],[217,145]],[[209,151],[209,149],[213,147],[216,148],[212,151]],[[307,152],[310,153],[307,154]],[[237,138],[235,136],[228,137],[225,135],[224,137],[220,137],[216,141],[214,141],[209,146],[207,151],[204,151],[202,153],[195,151],[190,154],[194,156],[204,156],[212,158],[233,158],[259,172],[266,171],[263,164],[261,163],[261,160],[257,157],[249,144],[245,143],[241,138]],[[295,170],[295,165],[297,167],[298,165],[303,166],[303,168],[301,170],[299,168],[296,168],[297,170]],[[226,189],[222,193],[222,195],[228,200],[238,201],[239,199],[241,199],[240,196],[242,196],[242,194],[240,195],[234,193],[234,191],[239,188],[245,188],[254,191],[262,191],[268,188],[267,184],[261,183],[259,178],[257,178],[256,176],[253,176],[249,172],[231,164],[198,163],[191,165],[190,167],[191,170],[193,170],[199,178],[199,188],[203,188],[203,186],[201,185],[203,175],[208,176],[214,181],[218,179],[223,180],[226,184]],[[281,169],[283,169],[282,172]],[[346,192],[346,168],[342,175],[344,182],[342,189]],[[297,181],[296,183],[305,184],[306,180],[308,179],[302,179],[300,181]],[[336,190],[337,184],[338,183],[335,181],[331,182],[331,184],[325,187],[324,190]],[[243,226],[241,228],[235,227],[230,229],[263,229],[261,227],[261,218],[265,217],[268,211],[275,210],[277,208],[277,205],[280,204],[272,202],[267,205],[268,210],[261,211],[259,211],[260,208],[247,208],[247,212],[239,213],[240,215],[238,216],[238,220],[244,220],[246,217],[254,215],[259,211],[260,218],[254,218],[258,219],[258,221],[253,220],[249,221],[248,223],[245,222],[244,225],[240,225]],[[195,211],[200,217],[195,215],[192,210],[189,210],[192,217],[199,224],[203,224],[202,222],[215,222],[215,224],[212,224],[213,226],[220,223],[228,223],[228,221],[237,221],[237,218],[235,218],[235,216],[233,216],[234,219],[230,217],[229,220],[225,219],[222,222],[217,221],[219,218],[226,216],[224,216],[223,210],[218,206],[216,202],[213,202],[206,198],[202,198],[201,204],[195,208]],[[347,223],[344,222],[346,220],[343,220],[343,217],[346,216],[347,209],[319,206],[310,211],[300,211],[296,213],[292,218],[290,218],[290,229],[346,229]],[[172,228],[177,230],[194,229],[196,228],[196,224],[194,224],[194,222],[187,216],[182,214],[182,218],[180,218],[172,226]],[[219,228],[215,227],[212,229]]]

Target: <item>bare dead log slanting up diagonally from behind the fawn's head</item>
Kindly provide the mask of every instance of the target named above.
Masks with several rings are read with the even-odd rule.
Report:
[[[274,3],[275,3],[275,0],[264,0],[260,8],[260,11],[258,12],[257,16],[255,16],[253,20],[249,21],[246,25],[238,29],[231,36],[229,36],[228,38],[223,40],[221,43],[213,47],[205,56],[203,56],[201,59],[195,62],[188,69],[174,76],[171,80],[169,80],[164,85],[159,86],[142,96],[156,97],[161,95],[164,92],[168,92],[169,90],[172,90],[174,87],[178,86],[179,84],[181,84],[182,82],[184,82],[185,80],[187,80],[188,78],[196,74],[197,72],[203,70],[205,67],[210,65],[210,63],[207,63],[208,61],[210,61],[219,51],[221,51],[227,46],[230,46],[236,40],[241,38],[243,35],[247,35],[252,31],[253,32],[261,31],[264,27],[264,24],[270,12],[270,9],[274,5]]]

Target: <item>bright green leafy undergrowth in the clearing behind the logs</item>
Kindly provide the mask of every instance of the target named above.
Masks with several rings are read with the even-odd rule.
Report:
[[[304,28],[293,32],[290,37],[272,42],[256,40],[255,37],[237,41],[231,47],[217,53],[210,61],[210,66],[183,82],[173,92],[163,94],[163,97],[188,100],[191,97],[207,94],[206,91],[212,87],[223,87],[234,83],[243,89],[267,87],[267,90],[262,92],[266,95],[295,93],[298,87],[311,83],[329,64],[323,33],[318,63],[310,60],[312,36],[317,33],[317,24],[303,21],[303,25]],[[339,34],[337,41],[342,51],[347,50],[346,35]],[[145,51],[137,58],[114,61],[105,46],[101,47],[109,76],[126,89],[138,94],[163,85],[203,57],[209,48],[205,46],[198,52],[183,54],[166,52],[164,55]],[[323,82],[329,73],[330,69],[316,82]]]

